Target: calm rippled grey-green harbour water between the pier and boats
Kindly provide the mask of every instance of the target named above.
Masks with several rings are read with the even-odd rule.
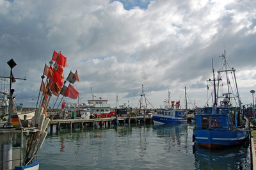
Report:
[[[193,124],[49,132],[40,169],[250,169],[250,147],[193,147]]]

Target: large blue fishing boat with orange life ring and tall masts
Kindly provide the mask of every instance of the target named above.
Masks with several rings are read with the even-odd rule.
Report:
[[[221,57],[223,58],[223,66],[218,71],[217,79],[215,79],[214,69],[212,68],[214,79],[209,80],[214,85],[214,104],[212,107],[197,108],[195,113],[196,126],[193,130],[193,141],[207,148],[243,144],[250,132],[249,121],[241,109],[241,100],[236,83],[236,70],[228,68],[225,54]],[[232,87],[232,83],[230,83],[230,74],[234,78],[233,84],[235,87]],[[224,84],[227,84],[226,93],[223,91]],[[218,100],[220,100],[219,105]]]

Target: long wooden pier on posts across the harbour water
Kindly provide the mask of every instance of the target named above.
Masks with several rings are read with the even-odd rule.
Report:
[[[106,127],[106,125],[110,126],[111,124],[120,125],[125,123],[144,123],[144,124],[153,124],[153,120],[151,117],[140,116],[140,117],[112,117],[112,118],[94,118],[94,119],[68,119],[68,120],[51,120],[50,126],[51,131],[53,126],[56,125],[56,129],[60,130],[62,128],[84,128],[86,127],[94,127],[96,124]]]

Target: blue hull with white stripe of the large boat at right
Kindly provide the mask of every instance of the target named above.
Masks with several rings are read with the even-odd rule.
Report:
[[[243,130],[198,130],[194,129],[193,141],[207,148],[223,148],[243,144],[249,129]]]

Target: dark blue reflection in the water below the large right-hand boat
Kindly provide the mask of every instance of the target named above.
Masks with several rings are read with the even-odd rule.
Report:
[[[243,146],[209,149],[193,146],[196,169],[250,169],[248,140]]]

